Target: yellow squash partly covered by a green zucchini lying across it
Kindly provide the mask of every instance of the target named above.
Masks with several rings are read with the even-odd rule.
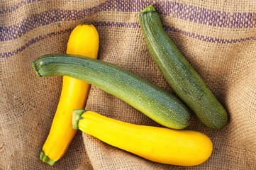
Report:
[[[69,37],[67,54],[83,55],[96,59],[99,35],[91,24],[80,24]],[[77,130],[72,128],[72,111],[84,108],[90,84],[72,77],[63,77],[62,92],[48,138],[43,145],[40,159],[55,164],[67,151]]]

